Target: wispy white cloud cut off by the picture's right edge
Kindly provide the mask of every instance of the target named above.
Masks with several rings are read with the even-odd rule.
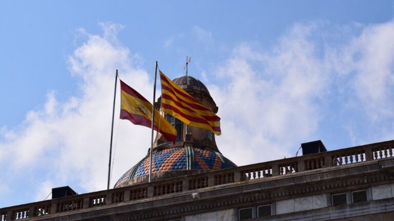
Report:
[[[335,71],[350,75],[352,90],[372,119],[394,116],[394,21],[367,26],[329,58]]]

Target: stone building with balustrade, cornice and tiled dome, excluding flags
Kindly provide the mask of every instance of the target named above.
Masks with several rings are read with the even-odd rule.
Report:
[[[218,111],[199,80],[174,82]],[[394,141],[237,167],[212,134],[164,117],[180,136],[156,136],[151,183],[144,157],[113,189],[1,208],[0,221],[394,220]]]

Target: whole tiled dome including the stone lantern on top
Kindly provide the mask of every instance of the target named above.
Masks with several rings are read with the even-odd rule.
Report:
[[[218,107],[207,87],[200,80],[191,76],[182,76],[175,78],[173,82],[208,109],[214,113],[218,112]],[[160,103],[160,99],[157,102]],[[172,116],[164,114],[164,117]],[[204,128],[186,126],[173,117],[171,119],[180,136],[173,144],[160,133],[156,134],[152,151],[152,181],[237,167],[219,151],[212,132]],[[147,156],[122,175],[114,188],[148,182],[148,175],[149,150]]]

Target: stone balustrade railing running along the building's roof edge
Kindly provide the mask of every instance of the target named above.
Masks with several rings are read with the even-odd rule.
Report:
[[[85,210],[218,185],[375,161],[394,157],[393,149],[394,140],[1,208],[0,221]]]

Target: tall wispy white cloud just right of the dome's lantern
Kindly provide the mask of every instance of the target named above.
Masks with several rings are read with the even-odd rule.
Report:
[[[293,156],[299,141],[317,130],[321,116],[315,101],[328,79],[307,40],[309,31],[294,26],[271,53],[243,43],[219,69],[225,86],[210,87],[223,119],[218,146],[235,162]]]

